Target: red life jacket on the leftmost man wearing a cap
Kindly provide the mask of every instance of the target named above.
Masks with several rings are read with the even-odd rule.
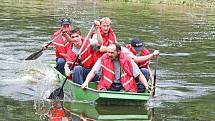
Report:
[[[57,32],[55,32],[54,35],[52,36],[52,39],[57,37],[60,33],[61,33],[61,30],[58,30]],[[52,45],[54,45],[56,49],[56,58],[62,58],[66,55],[67,48],[70,47],[71,44],[66,40],[65,37],[58,36],[58,38],[56,38],[53,41]]]

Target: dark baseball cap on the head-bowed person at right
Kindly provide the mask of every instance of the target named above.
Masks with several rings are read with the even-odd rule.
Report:
[[[144,44],[139,38],[133,38],[130,44],[136,51],[142,51],[144,49]]]

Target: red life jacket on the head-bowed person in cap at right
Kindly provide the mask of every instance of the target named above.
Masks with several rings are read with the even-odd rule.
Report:
[[[132,51],[133,49],[132,49],[131,44],[127,44],[127,45],[125,45],[125,47],[128,48],[134,55],[137,55],[137,52]],[[146,56],[146,55],[149,55],[149,54],[150,54],[150,51],[147,48],[144,47],[144,49],[141,51],[141,56]],[[146,60],[146,61],[143,61],[143,62],[139,63],[138,66],[140,68],[148,68],[149,60]]]

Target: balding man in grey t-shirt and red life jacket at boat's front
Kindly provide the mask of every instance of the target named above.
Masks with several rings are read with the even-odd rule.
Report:
[[[119,44],[110,44],[107,53],[93,66],[87,75],[82,88],[87,87],[93,77],[99,74],[101,80],[98,84],[98,90],[120,91],[124,89],[129,92],[137,92],[135,78],[138,78],[149,89],[146,78],[141,73],[137,64],[121,51]]]

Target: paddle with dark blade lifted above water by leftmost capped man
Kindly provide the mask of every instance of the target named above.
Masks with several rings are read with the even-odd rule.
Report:
[[[54,39],[52,39],[50,42],[48,42],[48,44],[46,45],[46,48],[55,40],[57,39],[60,35],[57,35]],[[37,58],[39,58],[42,54],[43,54],[43,50],[45,50],[44,48],[42,48],[41,50],[31,54],[30,56],[28,56],[25,60],[36,60]]]

